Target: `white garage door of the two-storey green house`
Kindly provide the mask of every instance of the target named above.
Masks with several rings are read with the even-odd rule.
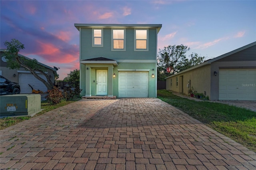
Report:
[[[148,97],[148,72],[119,72],[118,97]]]

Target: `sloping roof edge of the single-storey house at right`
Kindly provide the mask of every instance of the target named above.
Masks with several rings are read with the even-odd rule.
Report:
[[[242,46],[242,47],[240,47],[240,48],[238,48],[238,49],[236,49],[236,50],[233,50],[233,51],[231,51],[231,52],[228,52],[228,53],[226,53],[226,54],[223,54],[223,55],[221,55],[221,56],[218,56],[218,57],[216,57],[216,58],[212,58],[212,59],[206,60],[205,62],[203,62],[203,63],[201,63],[201,64],[198,64],[198,65],[196,65],[196,66],[194,66],[194,67],[191,67],[191,68],[188,68],[188,69],[183,70],[183,71],[181,71],[181,72],[178,72],[178,73],[173,74],[173,75],[171,75],[171,76],[168,76],[168,77],[166,77],[166,78],[164,78],[164,79],[167,79],[167,78],[170,78],[170,77],[172,77],[172,76],[176,76],[176,75],[178,75],[178,74],[181,74],[181,73],[184,73],[184,72],[188,72],[188,71],[190,71],[190,70],[194,70],[194,69],[196,69],[196,68],[199,68],[199,67],[202,67],[202,66],[211,64],[212,62],[215,62],[215,61],[220,60],[220,59],[222,59],[222,58],[224,58],[224,57],[230,56],[230,55],[232,55],[232,54],[235,54],[235,53],[237,53],[237,52],[240,52],[240,51],[242,51],[242,50],[245,50],[246,48],[250,48],[250,47],[255,46],[255,45],[256,45],[256,41],[255,41],[255,42],[252,42],[252,43],[250,43],[250,44],[248,44],[248,45],[246,45],[246,46]]]

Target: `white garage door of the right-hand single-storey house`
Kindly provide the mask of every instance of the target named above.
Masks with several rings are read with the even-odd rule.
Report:
[[[219,100],[256,100],[256,69],[222,69]]]

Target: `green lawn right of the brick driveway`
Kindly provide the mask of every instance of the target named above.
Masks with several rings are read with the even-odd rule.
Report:
[[[256,112],[222,103],[194,101],[158,90],[162,101],[256,152]]]

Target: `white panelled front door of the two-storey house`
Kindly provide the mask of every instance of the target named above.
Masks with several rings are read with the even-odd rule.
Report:
[[[97,70],[96,95],[108,94],[108,70]]]

